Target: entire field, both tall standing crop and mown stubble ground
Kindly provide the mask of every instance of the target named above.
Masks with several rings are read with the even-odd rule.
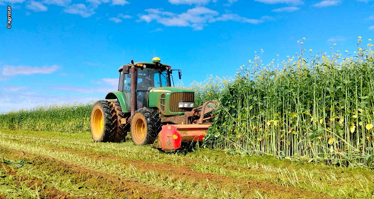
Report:
[[[0,198],[374,198],[374,52],[300,53],[194,82],[220,100],[192,151],[95,143],[93,103],[0,114]]]

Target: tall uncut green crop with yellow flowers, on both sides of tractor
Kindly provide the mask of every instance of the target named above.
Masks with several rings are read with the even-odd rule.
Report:
[[[374,52],[303,48],[264,65],[259,56],[234,79],[194,82],[196,105],[221,101],[205,146],[295,161],[374,167]],[[1,128],[89,131],[92,104],[39,107],[0,115]]]

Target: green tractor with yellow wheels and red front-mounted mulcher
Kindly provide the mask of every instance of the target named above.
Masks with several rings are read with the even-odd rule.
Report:
[[[121,142],[127,133],[135,145],[154,144],[165,151],[176,150],[182,143],[202,141],[206,135],[212,110],[218,101],[202,106],[194,104],[194,91],[172,87],[171,66],[137,62],[119,68],[118,91],[111,91],[105,100],[95,103],[91,112],[91,134],[95,142]]]

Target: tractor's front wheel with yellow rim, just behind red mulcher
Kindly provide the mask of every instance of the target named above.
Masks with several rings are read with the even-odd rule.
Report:
[[[153,144],[161,131],[161,119],[156,111],[138,109],[131,119],[131,138],[135,145]]]

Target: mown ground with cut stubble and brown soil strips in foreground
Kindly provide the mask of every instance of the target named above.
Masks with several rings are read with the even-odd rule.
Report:
[[[372,198],[374,171],[0,130],[0,198]]]

